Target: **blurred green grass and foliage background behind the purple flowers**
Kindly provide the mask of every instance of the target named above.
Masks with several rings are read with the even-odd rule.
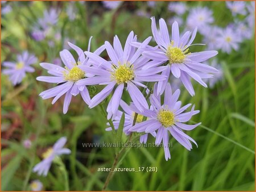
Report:
[[[117,10],[106,10],[101,2],[76,2],[77,16],[71,22],[65,13],[68,2],[10,2],[13,12],[2,15],[1,20],[1,61],[13,61],[16,54],[28,50],[35,53],[40,62],[51,62],[63,49],[65,37],[74,39],[84,50],[90,36],[93,36],[92,50],[105,40],[112,43],[115,34],[125,43],[131,30],[139,40],[144,40],[151,36],[151,22],[149,18],[137,16],[135,10],[145,10],[156,18],[167,19],[172,16],[167,3],[159,2],[150,9],[146,2],[124,2]],[[214,23],[219,26],[232,21],[225,2],[186,3],[189,7],[208,6],[214,12]],[[61,10],[54,29],[60,31],[61,40],[52,48],[47,41],[36,42],[30,36],[37,18],[49,7]],[[200,40],[198,35],[195,42],[200,43]],[[108,189],[255,190],[254,58],[254,39],[244,41],[239,51],[220,52],[217,56],[224,69],[224,78],[214,89],[195,84],[196,96],[190,97],[181,87],[183,105],[195,103],[200,110],[191,123],[202,122],[202,125],[188,132],[197,141],[198,148],[189,152],[171,138],[173,147],[169,161],[164,159],[163,148],[132,148],[119,164],[120,168],[154,166],[158,172],[115,173]],[[112,133],[105,131],[106,120],[100,107],[89,110],[77,96],[72,98],[68,113],[63,115],[63,98],[55,105],[51,105],[51,99],[39,98],[38,94],[51,85],[36,82],[35,78],[46,71],[39,63],[34,66],[36,72],[27,74],[22,84],[15,87],[6,76],[1,76],[2,190],[30,190],[28,183],[35,179],[43,182],[44,190],[64,190],[63,175],[56,165],[52,165],[47,177],[31,173],[42,152],[61,136],[68,137],[67,147],[72,150],[71,155],[61,157],[68,171],[69,189],[101,190],[108,173],[97,172],[97,169],[112,166],[114,149],[82,148],[85,142],[113,142]],[[22,141],[28,137],[32,140],[32,148],[24,149]],[[122,139],[125,141],[126,136]]]

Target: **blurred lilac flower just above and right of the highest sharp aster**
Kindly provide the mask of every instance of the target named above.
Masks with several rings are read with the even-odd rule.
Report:
[[[188,30],[193,30],[197,27],[198,31],[201,33],[204,31],[205,27],[213,23],[212,10],[207,7],[195,7],[191,9],[187,18],[187,28]]]

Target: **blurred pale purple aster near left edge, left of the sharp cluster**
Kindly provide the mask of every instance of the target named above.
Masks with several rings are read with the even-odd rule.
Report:
[[[3,66],[8,69],[3,69],[2,73],[9,76],[13,85],[17,85],[22,82],[27,72],[32,73],[35,71],[30,65],[35,64],[37,61],[38,59],[34,55],[25,51],[22,55],[17,56],[16,62],[4,61]]]

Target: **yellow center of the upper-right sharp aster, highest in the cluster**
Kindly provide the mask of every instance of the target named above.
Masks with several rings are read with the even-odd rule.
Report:
[[[188,52],[188,48],[185,51],[182,51],[179,47],[174,47],[174,41],[171,41],[171,45],[168,46],[166,55],[169,59],[169,64],[173,63],[181,63],[186,58],[186,53]]]

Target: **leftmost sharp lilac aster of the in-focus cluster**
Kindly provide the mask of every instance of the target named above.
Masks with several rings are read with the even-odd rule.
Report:
[[[88,51],[90,50],[90,40],[88,45]],[[44,69],[47,69],[48,73],[53,75],[54,77],[40,76],[36,78],[36,80],[38,81],[57,84],[56,87],[43,91],[39,94],[43,99],[55,97],[52,101],[52,104],[54,104],[62,95],[65,94],[63,105],[64,114],[66,114],[68,111],[72,95],[76,96],[78,94],[81,94],[81,97],[82,99],[84,99],[84,102],[87,105],[89,105],[89,91],[86,86],[77,86],[77,81],[83,78],[93,76],[92,74],[85,73],[83,70],[80,69],[80,66],[89,65],[90,63],[89,58],[85,57],[82,49],[72,43],[69,43],[69,46],[76,51],[77,55],[79,56],[78,61],[74,59],[71,52],[69,52],[67,49],[64,49],[60,52],[60,58],[63,61],[65,68],[54,64],[49,64],[47,62],[43,62],[40,64],[40,66],[42,66],[42,68]],[[98,48],[94,53],[96,55],[100,54],[102,51],[104,51],[104,49],[105,48],[102,46]]]

